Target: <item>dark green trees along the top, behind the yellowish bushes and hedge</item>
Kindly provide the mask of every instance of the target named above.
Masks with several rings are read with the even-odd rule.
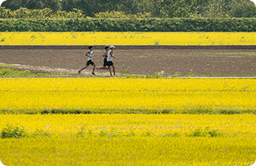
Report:
[[[56,13],[76,8],[87,17],[114,10],[126,14],[148,12],[151,17],[256,17],[251,0],[5,0],[1,7],[11,10],[47,7]]]

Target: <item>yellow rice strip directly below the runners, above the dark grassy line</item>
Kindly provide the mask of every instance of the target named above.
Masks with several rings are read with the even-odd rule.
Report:
[[[0,85],[0,110],[6,113],[256,110],[255,79],[17,78]]]

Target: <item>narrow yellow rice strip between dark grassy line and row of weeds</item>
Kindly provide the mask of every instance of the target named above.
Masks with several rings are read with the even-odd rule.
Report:
[[[199,131],[203,137],[256,137],[255,115],[1,115],[0,130],[23,127],[27,134],[38,129],[52,136],[71,137],[185,137]],[[209,132],[215,132],[210,134]],[[80,135],[81,136],[81,135]],[[255,142],[256,143],[256,142]]]

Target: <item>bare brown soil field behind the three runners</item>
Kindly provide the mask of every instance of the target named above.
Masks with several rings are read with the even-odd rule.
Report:
[[[102,47],[94,50],[96,66],[103,65]],[[33,72],[62,72],[76,75],[77,71],[86,66],[87,49],[77,47],[5,47],[0,52],[0,63],[19,64],[12,68]],[[147,47],[147,46],[116,46],[114,64],[118,74],[154,75],[155,72],[168,76],[189,75],[256,75],[256,48],[221,48],[221,47]],[[82,75],[90,75],[89,66]],[[96,75],[109,75],[108,71],[95,71]]]

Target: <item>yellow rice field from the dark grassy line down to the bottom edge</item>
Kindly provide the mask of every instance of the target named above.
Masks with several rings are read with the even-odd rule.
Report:
[[[255,115],[1,115],[5,165],[252,165]],[[39,132],[38,132],[39,131]],[[15,156],[15,158],[13,158]]]

